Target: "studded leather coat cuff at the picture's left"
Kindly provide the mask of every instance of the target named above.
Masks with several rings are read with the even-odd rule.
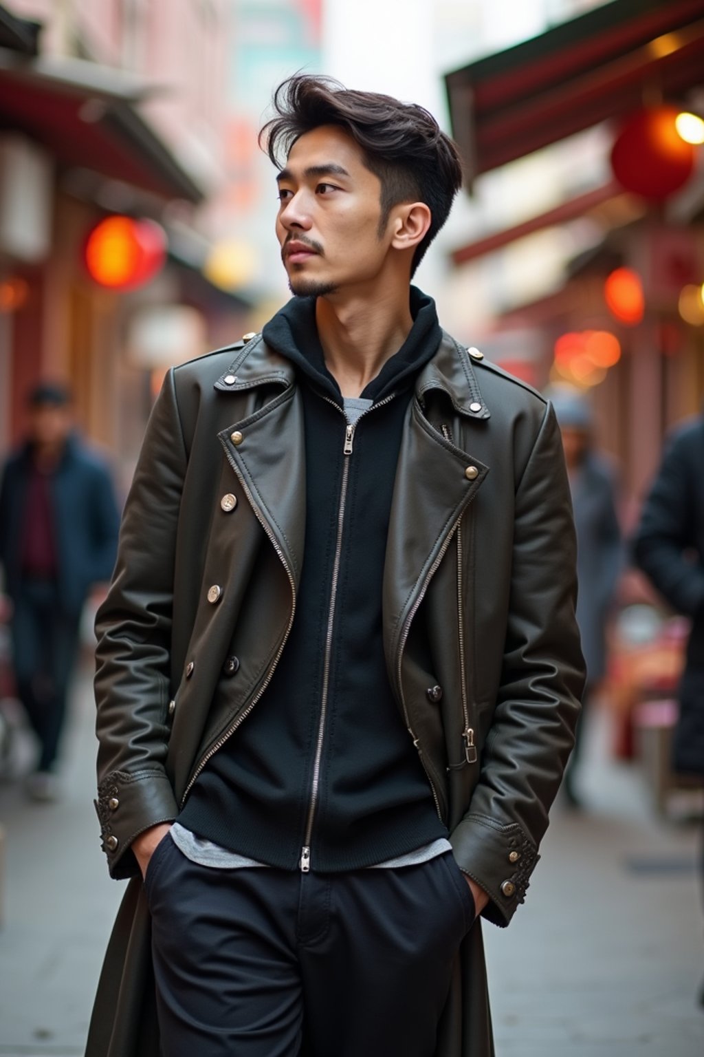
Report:
[[[110,875],[131,877],[139,867],[130,849],[136,836],[159,822],[172,822],[178,808],[163,771],[114,771],[98,785],[95,810]]]

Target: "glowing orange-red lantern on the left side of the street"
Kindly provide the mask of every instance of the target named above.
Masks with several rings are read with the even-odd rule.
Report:
[[[166,231],[153,220],[108,217],[88,237],[85,265],[101,286],[135,290],[161,268],[166,251]]]

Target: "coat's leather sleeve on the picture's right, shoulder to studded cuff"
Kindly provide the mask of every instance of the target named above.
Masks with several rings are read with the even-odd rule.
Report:
[[[508,925],[522,903],[574,743],[584,660],[574,608],[576,543],[554,412],[547,407],[515,497],[501,679],[470,810],[451,834],[460,868]]]

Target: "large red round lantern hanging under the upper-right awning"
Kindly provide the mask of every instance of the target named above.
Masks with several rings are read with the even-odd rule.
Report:
[[[649,107],[632,114],[611,150],[611,168],[626,190],[662,202],[691,175],[695,148],[676,127],[677,107]]]

